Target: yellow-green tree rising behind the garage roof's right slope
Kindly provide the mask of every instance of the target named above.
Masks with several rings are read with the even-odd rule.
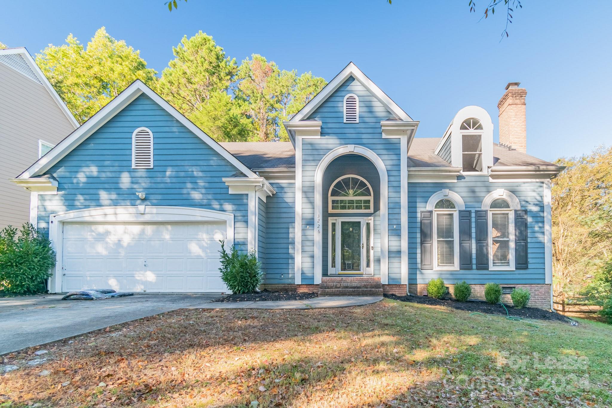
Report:
[[[172,50],[174,59],[159,81],[160,95],[215,140],[247,140],[252,122],[228,95],[236,60],[201,31],[190,39],[185,35]]]

